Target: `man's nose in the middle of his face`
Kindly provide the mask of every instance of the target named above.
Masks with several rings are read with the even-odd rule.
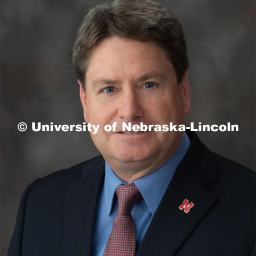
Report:
[[[118,116],[125,122],[138,121],[143,115],[143,109],[136,90],[129,89],[123,92],[118,108]]]

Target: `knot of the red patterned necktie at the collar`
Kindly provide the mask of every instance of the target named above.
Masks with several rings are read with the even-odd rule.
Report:
[[[134,204],[142,199],[139,189],[134,183],[129,185],[120,185],[116,188],[118,199],[118,214],[128,215],[132,211]]]

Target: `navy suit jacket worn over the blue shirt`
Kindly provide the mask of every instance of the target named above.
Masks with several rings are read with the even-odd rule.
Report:
[[[190,148],[136,255],[254,255],[255,173],[212,153],[195,133],[188,135]],[[8,256],[91,255],[104,173],[98,156],[31,183]],[[179,209],[185,198],[194,203],[188,213]]]

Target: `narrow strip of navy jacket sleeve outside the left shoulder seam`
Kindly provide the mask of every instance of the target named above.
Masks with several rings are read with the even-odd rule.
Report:
[[[12,240],[9,246],[9,251],[7,256],[22,255],[22,237],[23,237],[24,220],[26,215],[26,205],[27,205],[27,200],[28,200],[30,190],[35,182],[36,180],[30,183],[30,185],[26,188],[26,190],[22,194],[19,209],[18,209],[18,214],[17,214],[17,220],[15,223],[15,228],[14,228],[14,232],[12,235]]]

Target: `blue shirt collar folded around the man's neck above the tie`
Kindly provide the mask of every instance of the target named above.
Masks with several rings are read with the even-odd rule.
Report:
[[[172,177],[180,164],[182,158],[185,156],[190,141],[188,135],[184,132],[175,153],[157,170],[149,173],[133,183],[140,190],[140,193],[145,200],[150,212],[154,215],[159,203],[164,196],[164,193],[172,180]],[[120,179],[110,168],[108,163],[105,163],[105,181],[103,191],[105,194],[105,204],[107,214],[111,212],[113,198],[116,188],[121,184],[127,184],[126,181]],[[152,189],[154,188],[154,189]]]

